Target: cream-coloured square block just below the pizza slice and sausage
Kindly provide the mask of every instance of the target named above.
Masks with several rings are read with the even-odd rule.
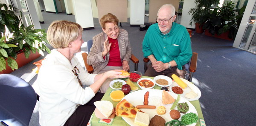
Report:
[[[149,125],[149,114],[143,112],[137,112],[134,123],[139,126]]]

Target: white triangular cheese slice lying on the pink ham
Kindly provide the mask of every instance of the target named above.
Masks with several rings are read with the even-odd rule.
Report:
[[[99,100],[93,104],[106,118],[108,118],[113,112],[113,104],[108,100]]]

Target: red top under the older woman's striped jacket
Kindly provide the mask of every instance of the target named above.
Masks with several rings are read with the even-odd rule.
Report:
[[[117,39],[108,37],[108,42],[112,43],[109,51],[109,61],[107,66],[122,66],[119,46]],[[104,58],[105,59],[105,58]]]

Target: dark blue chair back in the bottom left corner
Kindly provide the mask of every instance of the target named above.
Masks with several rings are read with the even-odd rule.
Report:
[[[0,121],[9,126],[29,126],[37,95],[25,80],[0,74]]]

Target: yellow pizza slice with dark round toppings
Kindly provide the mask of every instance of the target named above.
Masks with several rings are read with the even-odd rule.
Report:
[[[125,99],[121,100],[116,105],[116,115],[117,116],[134,118],[138,111],[140,111],[140,109],[137,109],[135,106],[133,106],[131,103],[129,103]],[[142,112],[142,111],[140,111],[140,112]]]

